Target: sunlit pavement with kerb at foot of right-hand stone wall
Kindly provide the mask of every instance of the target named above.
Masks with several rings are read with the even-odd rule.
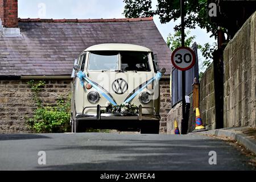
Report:
[[[236,140],[238,143],[245,146],[247,150],[254,152],[254,154],[256,155],[256,128],[229,127],[225,129],[208,130],[208,131],[201,131],[201,132],[189,133],[189,134],[228,137],[230,139]]]

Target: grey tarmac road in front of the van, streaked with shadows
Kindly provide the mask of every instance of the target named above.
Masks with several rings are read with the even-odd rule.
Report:
[[[200,135],[0,134],[0,170],[253,170],[248,161],[226,142]]]

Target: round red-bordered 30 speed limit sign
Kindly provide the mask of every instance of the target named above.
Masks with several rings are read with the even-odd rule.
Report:
[[[188,47],[179,47],[172,52],[172,65],[175,68],[186,71],[193,67],[196,63],[196,56],[192,49]]]

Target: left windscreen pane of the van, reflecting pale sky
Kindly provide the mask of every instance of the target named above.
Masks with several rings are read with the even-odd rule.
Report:
[[[89,57],[89,70],[117,70],[118,52],[92,51]]]

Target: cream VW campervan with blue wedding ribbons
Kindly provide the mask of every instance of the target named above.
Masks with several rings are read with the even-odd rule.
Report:
[[[86,128],[159,133],[159,80],[150,49],[132,44],[99,44],[75,60],[72,132]]]

